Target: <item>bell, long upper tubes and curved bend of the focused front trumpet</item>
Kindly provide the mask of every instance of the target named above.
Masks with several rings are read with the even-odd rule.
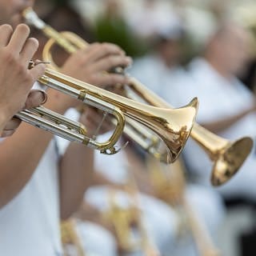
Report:
[[[101,151],[114,150],[114,144],[121,136],[125,125],[125,121],[122,119],[123,114],[158,134],[168,150],[166,162],[174,162],[190,133],[196,114],[196,100],[191,102],[190,106],[176,110],[158,108],[141,102],[134,102],[130,98],[70,78],[55,70],[46,69],[45,75],[39,79],[39,82],[76,98],[80,98],[82,92],[81,100],[83,102],[106,110],[110,114],[115,114],[118,122],[116,130],[110,138],[110,144],[98,145],[94,142],[97,149]],[[182,122],[180,122],[180,119],[182,119]]]

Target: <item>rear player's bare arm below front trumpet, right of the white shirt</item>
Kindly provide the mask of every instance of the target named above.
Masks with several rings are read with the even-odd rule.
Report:
[[[70,143],[60,162],[60,202],[62,219],[69,218],[81,205],[86,189],[92,183],[94,150]]]

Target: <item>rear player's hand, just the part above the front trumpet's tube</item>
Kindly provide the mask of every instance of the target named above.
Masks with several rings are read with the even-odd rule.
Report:
[[[126,84],[129,79],[122,74],[107,73],[117,66],[129,66],[131,58],[111,43],[93,43],[78,50],[62,66],[62,73],[95,86]]]

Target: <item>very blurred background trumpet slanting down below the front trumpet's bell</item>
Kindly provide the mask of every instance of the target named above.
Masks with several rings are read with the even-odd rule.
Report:
[[[162,166],[154,158],[148,158],[146,163],[158,198],[173,206],[179,216],[185,215],[184,224],[190,230],[198,255],[220,256],[221,253],[214,245],[205,222],[198,218],[194,207],[186,198],[185,166],[182,159],[179,158],[172,166]]]

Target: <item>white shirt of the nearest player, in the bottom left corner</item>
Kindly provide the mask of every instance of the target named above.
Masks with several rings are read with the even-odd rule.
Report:
[[[62,255],[55,146],[51,141],[30,181],[0,210],[2,256]]]

